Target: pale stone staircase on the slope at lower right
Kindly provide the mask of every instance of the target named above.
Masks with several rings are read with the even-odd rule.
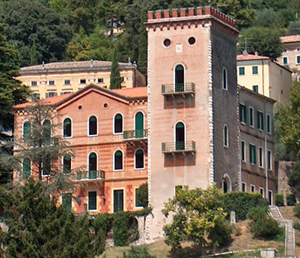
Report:
[[[270,206],[271,216],[280,224],[285,227],[285,256],[295,256],[295,230],[293,228],[293,221],[284,219],[277,206]]]

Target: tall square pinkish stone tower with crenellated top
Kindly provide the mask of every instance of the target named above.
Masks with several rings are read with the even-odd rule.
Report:
[[[234,20],[211,7],[148,12],[149,239],[176,188],[240,187]]]

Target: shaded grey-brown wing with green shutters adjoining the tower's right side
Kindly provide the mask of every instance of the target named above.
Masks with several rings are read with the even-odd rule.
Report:
[[[239,87],[242,191],[258,192],[274,204],[277,177],[274,162],[275,100]]]

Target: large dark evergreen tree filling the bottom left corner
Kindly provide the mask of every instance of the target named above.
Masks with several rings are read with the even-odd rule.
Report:
[[[57,206],[47,186],[32,178],[14,189],[2,188],[0,204],[8,232],[0,238],[7,258],[94,258],[86,216],[75,218]]]

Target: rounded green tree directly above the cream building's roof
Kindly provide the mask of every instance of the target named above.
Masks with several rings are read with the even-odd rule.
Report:
[[[251,27],[242,30],[242,36],[238,40],[239,52],[246,49],[248,53],[256,51],[262,56],[268,56],[276,60],[283,51],[283,44],[280,40],[280,32],[274,28]]]

